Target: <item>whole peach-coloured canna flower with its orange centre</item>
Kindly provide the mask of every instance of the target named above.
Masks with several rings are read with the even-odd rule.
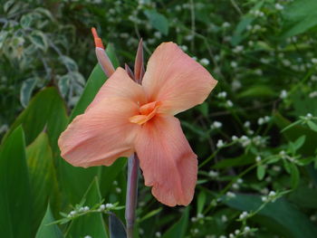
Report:
[[[216,82],[176,43],[161,43],[141,84],[120,67],[111,74],[59,138],[62,157],[75,167],[110,166],[136,152],[145,185],[159,202],[188,205],[197,183],[197,155],[174,115],[206,100]]]

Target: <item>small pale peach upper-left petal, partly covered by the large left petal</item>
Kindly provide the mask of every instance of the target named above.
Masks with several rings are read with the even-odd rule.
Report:
[[[145,92],[142,87],[135,81],[132,81],[128,73],[120,67],[102,85],[86,111],[96,106],[101,100],[110,98],[128,99],[136,103],[139,101],[140,104],[146,101]]]

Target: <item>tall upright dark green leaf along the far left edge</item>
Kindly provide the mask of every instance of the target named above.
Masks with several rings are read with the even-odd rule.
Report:
[[[34,237],[24,148],[21,127],[14,129],[0,148],[0,231],[7,238]]]

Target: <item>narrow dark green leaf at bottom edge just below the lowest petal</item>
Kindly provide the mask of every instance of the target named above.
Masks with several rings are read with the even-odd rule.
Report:
[[[183,238],[187,232],[187,224],[189,218],[189,206],[184,211],[184,214],[180,218],[180,220],[173,224],[166,233],[163,234],[162,238]]]

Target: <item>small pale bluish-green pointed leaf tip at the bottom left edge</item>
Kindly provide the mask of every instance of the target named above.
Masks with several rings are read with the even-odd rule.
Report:
[[[50,205],[47,206],[46,213],[43,217],[42,223],[37,230],[35,238],[62,238],[62,232],[57,224],[54,222],[53,214]]]

